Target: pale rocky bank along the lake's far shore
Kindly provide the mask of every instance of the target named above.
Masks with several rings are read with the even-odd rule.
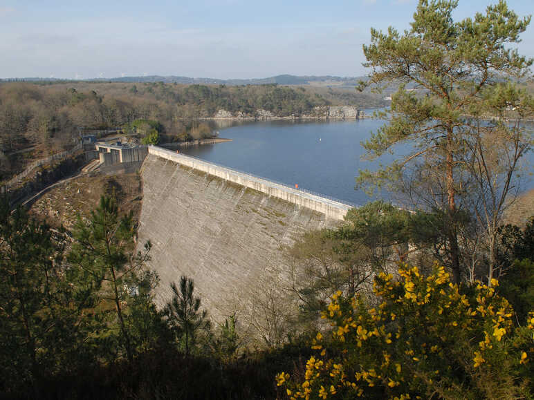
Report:
[[[214,120],[359,120],[368,117],[356,106],[316,106],[310,113],[302,115],[288,115],[280,117],[271,111],[256,110],[253,114],[246,114],[242,111],[231,113],[226,110],[219,110],[212,117]]]

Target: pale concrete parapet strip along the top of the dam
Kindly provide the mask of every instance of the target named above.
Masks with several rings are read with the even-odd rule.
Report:
[[[326,218],[343,220],[349,209],[358,207],[356,204],[349,204],[333,198],[327,198],[326,196],[312,193],[311,191],[293,189],[286,184],[266,180],[250,173],[236,171],[225,166],[203,161],[199,158],[191,157],[190,155],[176,153],[158,146],[149,146],[148,153],[184,166],[189,166],[198,171],[209,173],[210,175],[217,176],[224,180],[240,184],[243,187],[249,187],[250,189],[257,190],[261,193],[266,193],[269,196],[281,198],[282,200],[297,204],[299,207],[307,207],[319,213],[323,213]]]

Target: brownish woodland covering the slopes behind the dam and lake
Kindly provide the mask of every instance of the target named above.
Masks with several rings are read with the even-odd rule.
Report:
[[[158,124],[158,133],[172,141],[189,137],[199,129],[199,119],[214,117],[219,110],[245,117],[257,116],[260,109],[277,117],[299,117],[330,104],[371,107],[382,103],[369,93],[276,84],[4,82],[0,84],[0,175],[9,178],[28,160],[70,149],[82,133],[128,129],[136,120]]]

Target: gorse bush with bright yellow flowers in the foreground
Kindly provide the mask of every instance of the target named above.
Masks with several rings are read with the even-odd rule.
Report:
[[[532,363],[534,314],[515,327],[508,301],[482,283],[455,285],[443,267],[423,276],[401,265],[381,273],[377,307],[335,293],[322,318],[329,334],[311,347],[303,381],[282,372],[291,399],[506,398],[525,394]]]

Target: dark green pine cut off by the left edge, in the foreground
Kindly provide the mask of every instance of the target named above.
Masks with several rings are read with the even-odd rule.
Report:
[[[91,291],[62,263],[64,236],[0,204],[0,391],[81,362]]]

